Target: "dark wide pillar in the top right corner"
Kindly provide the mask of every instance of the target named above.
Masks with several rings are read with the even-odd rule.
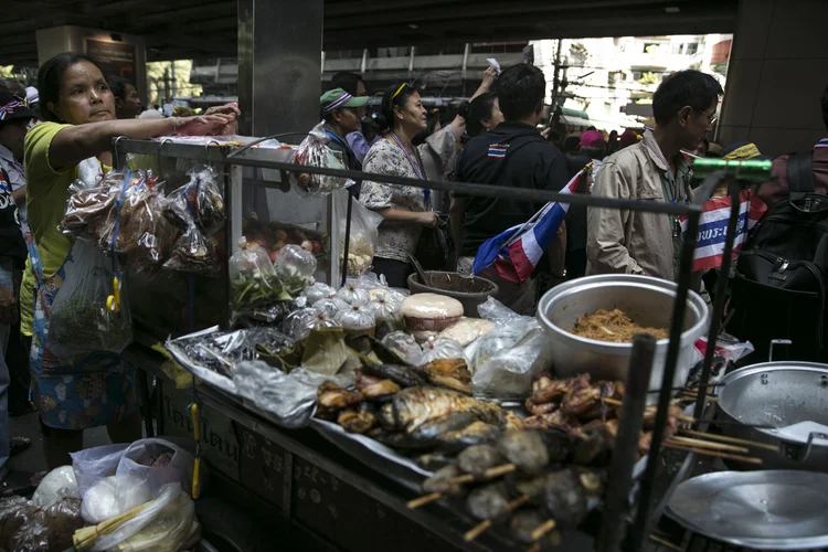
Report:
[[[809,150],[828,134],[819,97],[828,85],[828,1],[742,0],[718,141],[763,153]]]

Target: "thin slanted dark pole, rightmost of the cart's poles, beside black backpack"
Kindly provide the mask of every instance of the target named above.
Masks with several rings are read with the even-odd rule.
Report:
[[[710,321],[710,331],[708,332],[708,347],[704,349],[704,363],[701,369],[701,378],[699,380],[699,391],[696,396],[696,407],[693,408],[693,417],[697,420],[696,428],[699,428],[698,420],[701,418],[702,411],[704,410],[704,400],[708,394],[708,380],[710,379],[710,370],[713,365],[713,358],[715,357],[715,342],[719,336],[719,330],[722,326],[722,316],[724,315],[724,299],[728,293],[728,282],[730,280],[730,266],[733,256],[733,242],[736,238],[736,224],[739,223],[739,210],[740,210],[740,187],[736,180],[731,179],[730,182],[730,220],[728,221],[728,235],[724,241],[724,256],[722,257],[722,267],[719,274],[719,279],[715,283],[715,298],[713,299],[713,319]],[[745,224],[747,221],[745,221]]]

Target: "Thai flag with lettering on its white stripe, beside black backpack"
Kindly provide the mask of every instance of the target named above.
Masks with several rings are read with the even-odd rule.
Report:
[[[713,198],[702,209],[699,219],[699,235],[693,253],[693,272],[707,270],[722,266],[724,256],[724,241],[728,237],[728,220],[730,219],[730,195]],[[742,248],[747,234],[756,225],[767,205],[754,198],[750,190],[742,190],[739,205],[739,221],[736,236],[733,240],[733,256]],[[687,216],[681,216],[681,230],[687,233]]]

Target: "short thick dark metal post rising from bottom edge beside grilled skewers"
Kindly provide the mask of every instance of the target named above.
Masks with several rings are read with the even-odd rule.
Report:
[[[633,468],[638,458],[638,437],[644,425],[644,408],[647,404],[647,391],[655,354],[656,338],[647,333],[637,335],[633,340],[618,436],[615,439],[613,461],[609,465],[609,482],[604,499],[598,552],[620,551],[622,541],[627,532],[629,489],[633,485]]]

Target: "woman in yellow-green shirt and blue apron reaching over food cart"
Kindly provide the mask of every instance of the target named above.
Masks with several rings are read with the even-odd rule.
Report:
[[[25,138],[26,206],[30,257],[21,286],[21,332],[32,337],[30,371],[40,412],[49,468],[70,464],[68,453],[83,448],[83,429],[106,425],[114,443],[141,437],[132,370],[117,355],[94,353],[74,365],[45,347],[49,311],[61,285],[74,240],[57,231],[76,179],[94,185],[112,167],[117,136],[217,135],[234,124],[238,110],[167,119],[116,120],[115,98],[95,62],[65,53],[38,74],[41,123]]]

